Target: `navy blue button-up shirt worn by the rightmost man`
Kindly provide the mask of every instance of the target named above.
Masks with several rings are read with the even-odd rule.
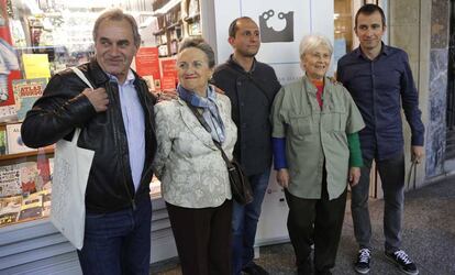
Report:
[[[339,61],[336,74],[366,124],[359,132],[364,158],[387,160],[403,150],[401,106],[411,144],[423,145],[419,95],[404,51],[382,43],[381,53],[370,61],[358,47]]]

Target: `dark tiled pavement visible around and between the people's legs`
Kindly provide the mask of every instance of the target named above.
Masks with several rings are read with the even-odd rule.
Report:
[[[370,275],[393,275],[400,273],[384,256],[382,235],[384,201],[370,202],[373,223],[373,262]],[[406,197],[402,249],[418,264],[421,275],[455,275],[455,178],[410,191]],[[356,255],[349,208],[333,274],[355,274],[352,268]],[[289,243],[260,248],[257,263],[273,275],[293,275],[293,250]],[[153,265],[151,274],[181,274],[177,258]]]

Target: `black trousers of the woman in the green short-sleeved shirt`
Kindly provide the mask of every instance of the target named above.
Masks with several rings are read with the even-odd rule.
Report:
[[[315,274],[325,274],[335,266],[336,252],[346,207],[346,189],[329,200],[324,173],[321,199],[303,199],[285,189],[289,207],[288,231],[299,274],[311,274],[311,244],[314,243]]]

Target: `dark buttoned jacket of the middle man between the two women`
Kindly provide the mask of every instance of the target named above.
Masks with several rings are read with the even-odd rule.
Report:
[[[217,67],[213,84],[231,99],[232,119],[237,125],[234,156],[247,175],[262,174],[271,167],[270,108],[280,89],[275,70],[255,61],[246,73],[232,56]],[[260,86],[258,88],[257,86]]]

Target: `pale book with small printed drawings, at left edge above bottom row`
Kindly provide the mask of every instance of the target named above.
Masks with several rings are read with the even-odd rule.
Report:
[[[0,166],[0,197],[21,195],[20,166],[18,164]]]

